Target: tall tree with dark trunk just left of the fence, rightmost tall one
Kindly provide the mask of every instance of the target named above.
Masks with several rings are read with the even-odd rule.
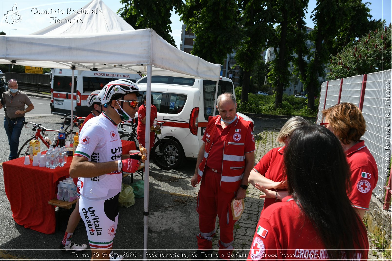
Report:
[[[298,57],[294,64],[299,71],[304,89],[308,92],[308,108],[314,110],[314,96],[319,90],[319,76],[324,75],[324,67],[331,54],[353,41],[359,31],[379,27],[381,21],[368,21],[370,9],[361,0],[318,1],[311,17],[316,24],[314,30],[306,34],[306,27],[297,23],[297,41],[294,42]],[[358,23],[358,24],[355,24]],[[375,30],[377,27],[373,28]],[[306,45],[306,40],[313,44]]]

